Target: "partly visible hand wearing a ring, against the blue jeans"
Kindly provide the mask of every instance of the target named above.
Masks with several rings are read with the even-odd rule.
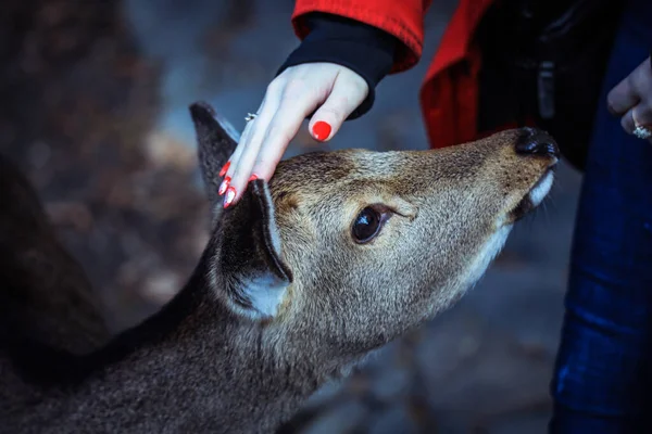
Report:
[[[610,112],[623,129],[652,143],[652,60],[645,59],[606,97]]]

